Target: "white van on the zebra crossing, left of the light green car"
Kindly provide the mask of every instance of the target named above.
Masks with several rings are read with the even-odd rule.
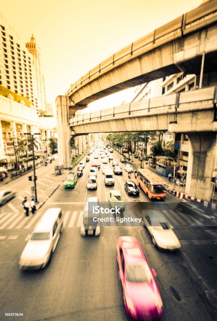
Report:
[[[93,206],[98,206],[98,197],[88,197],[87,202],[85,204],[83,218],[81,222],[80,234],[82,236],[86,236],[88,234],[91,235],[99,235],[100,234],[100,226],[99,223],[93,221],[93,218],[99,218],[99,214],[93,214],[92,212],[88,213],[88,202],[92,203]]]

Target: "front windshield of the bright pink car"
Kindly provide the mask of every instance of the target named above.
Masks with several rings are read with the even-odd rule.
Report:
[[[129,282],[150,282],[152,279],[151,271],[146,263],[136,264],[136,265],[128,265],[126,278]]]

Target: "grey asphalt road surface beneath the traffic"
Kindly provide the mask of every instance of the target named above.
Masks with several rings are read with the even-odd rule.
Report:
[[[115,160],[120,159],[116,152],[113,156]],[[0,312],[25,312],[26,316],[3,317],[0,320],[127,320],[116,261],[116,240],[123,235],[137,237],[150,266],[157,272],[157,284],[164,306],[163,320],[216,320],[216,228],[204,227],[199,216],[171,216],[173,225],[174,222],[182,222],[174,226],[181,249],[172,253],[154,247],[151,237],[142,226],[104,226],[98,237],[81,237],[82,211],[87,197],[97,196],[99,201],[107,201],[109,190],[113,189],[104,186],[101,166],[97,172],[97,190],[87,191],[93,154],[90,159],[74,189],[64,189],[61,182],[63,177],[52,179],[51,168],[44,167],[41,172],[38,169],[38,181],[49,185],[46,187],[41,184],[40,189],[43,191],[44,188],[44,195],[51,186],[59,182],[61,186],[34,216],[24,217],[19,197],[1,208]],[[101,159],[99,162],[102,165]],[[111,164],[108,166],[112,168]],[[125,193],[123,183],[126,179],[127,173],[124,170],[122,176],[115,176],[114,189],[121,191],[124,200],[135,201],[135,205],[148,202],[142,191],[139,197]],[[22,198],[27,188],[26,178],[19,178],[10,184],[14,184],[14,189],[18,190],[18,196]],[[42,191],[39,195],[41,199]],[[167,200],[175,202],[177,198],[168,194]],[[13,206],[18,212],[13,211]],[[43,270],[22,272],[18,262],[25,240],[49,207],[61,207],[65,215],[64,230],[53,259]],[[14,214],[17,216],[13,218]]]

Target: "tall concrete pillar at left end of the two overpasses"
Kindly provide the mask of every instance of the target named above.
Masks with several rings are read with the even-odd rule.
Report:
[[[57,96],[55,100],[57,134],[58,134],[58,160],[59,165],[71,166],[71,128],[69,127],[70,100],[67,96]]]

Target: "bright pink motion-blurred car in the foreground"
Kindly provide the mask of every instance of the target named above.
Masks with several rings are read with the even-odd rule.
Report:
[[[158,320],[163,302],[154,279],[157,273],[151,269],[138,240],[132,236],[119,237],[116,253],[128,316],[134,320]]]

